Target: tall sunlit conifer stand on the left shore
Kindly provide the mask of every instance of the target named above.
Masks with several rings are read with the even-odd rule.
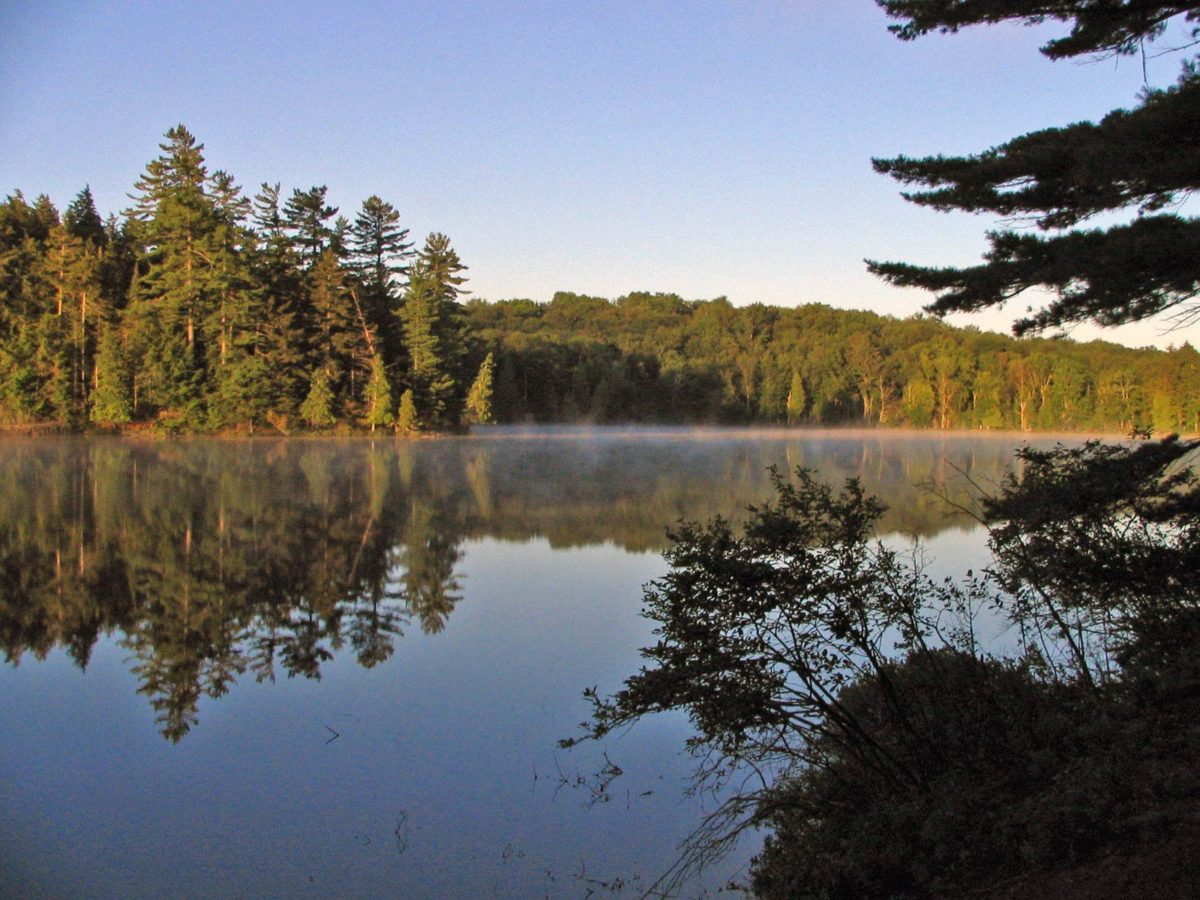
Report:
[[[287,431],[461,425],[468,372],[450,240],[420,250],[379,197],[246,197],[184,126],[104,221],[84,188],[0,205],[0,422]]]

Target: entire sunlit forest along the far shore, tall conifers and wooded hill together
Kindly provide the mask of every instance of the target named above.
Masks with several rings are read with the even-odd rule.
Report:
[[[379,197],[247,197],[169,130],[120,216],[0,205],[0,426],[162,432],[703,422],[1194,432],[1200,355],[634,292],[469,298]]]

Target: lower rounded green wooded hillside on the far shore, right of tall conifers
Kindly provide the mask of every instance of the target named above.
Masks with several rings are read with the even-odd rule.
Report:
[[[500,421],[1196,431],[1200,354],[634,293],[467,304]]]

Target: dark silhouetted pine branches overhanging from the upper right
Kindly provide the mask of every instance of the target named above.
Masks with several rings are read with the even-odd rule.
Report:
[[[1145,52],[1181,17],[1200,36],[1193,2],[1068,0],[877,0],[904,40],[1002,20],[1070,24],[1042,52],[1051,59]],[[1189,60],[1178,82],[1147,90],[1136,108],[1099,122],[1045,128],[965,157],[876,160],[877,172],[922,190],[906,193],[937,210],[1031,220],[1043,234],[989,235],[980,265],[938,269],[869,263],[893,284],[932,290],[931,312],[998,306],[1030,288],[1054,299],[1019,319],[1018,334],[1092,320],[1118,325],[1177,307],[1200,293],[1200,220],[1177,210],[1200,187],[1200,68]],[[1079,228],[1102,215],[1134,212],[1106,228]]]

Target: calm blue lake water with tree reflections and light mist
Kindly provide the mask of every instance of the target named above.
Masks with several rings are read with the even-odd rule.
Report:
[[[965,498],[961,475],[998,482],[1018,445],[0,442],[0,893],[638,895],[710,806],[684,796],[686,719],[557,742],[583,688],[636,671],[666,527],[739,518],[769,466],[808,466],[862,478],[886,532],[958,571],[983,538],[923,485]],[[608,761],[624,774],[596,797]],[[756,842],[685,893],[743,875]]]

